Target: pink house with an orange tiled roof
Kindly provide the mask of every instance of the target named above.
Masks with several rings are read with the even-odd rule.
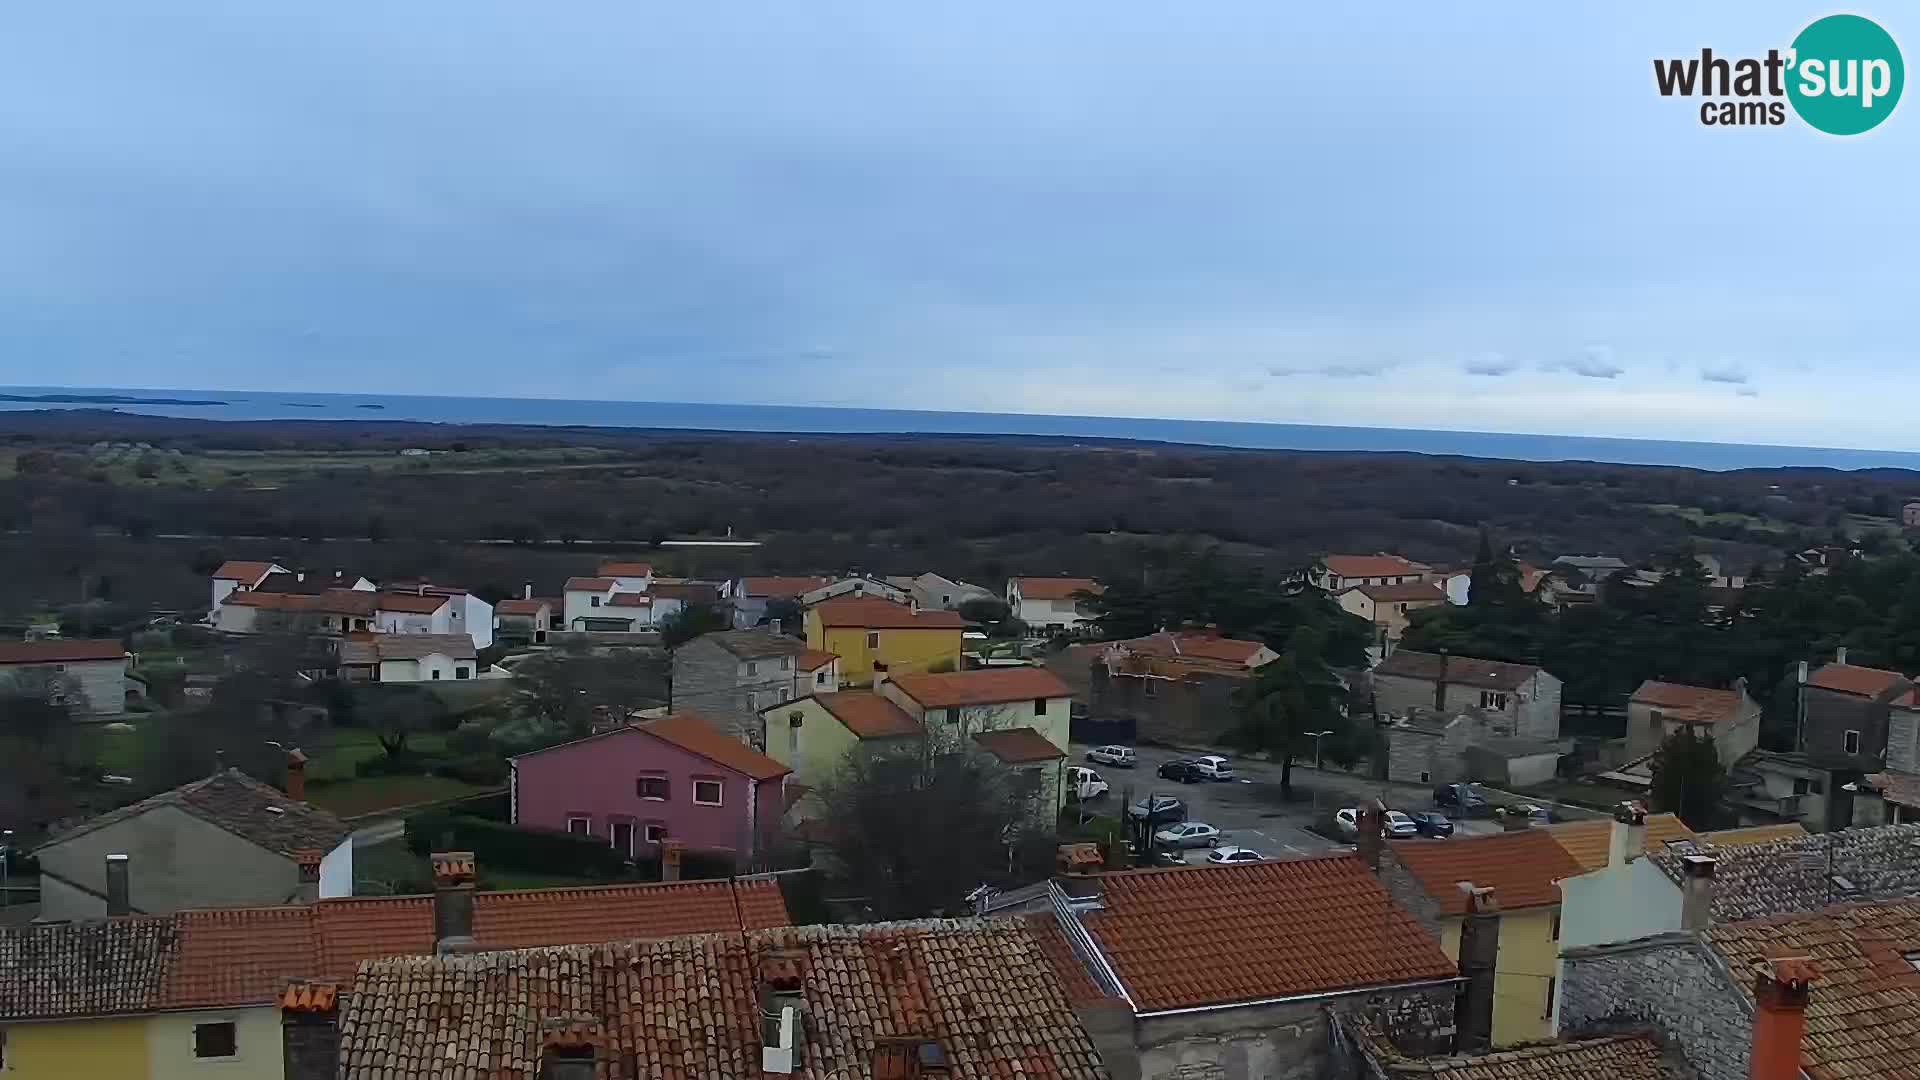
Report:
[[[678,840],[751,867],[780,824],[785,765],[691,713],[513,759],[513,822],[597,836],[630,857]]]

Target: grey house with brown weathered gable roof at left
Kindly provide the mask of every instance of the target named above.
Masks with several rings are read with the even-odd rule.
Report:
[[[351,830],[303,801],[298,751],[288,755],[286,786],[221,769],[54,836],[35,849],[40,917],[106,915],[109,855],[138,867],[129,894],[138,915],[353,896]]]

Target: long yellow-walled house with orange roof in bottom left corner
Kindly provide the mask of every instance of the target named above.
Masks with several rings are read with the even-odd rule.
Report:
[[[336,1063],[315,1063],[315,1051],[336,1042],[340,990],[365,961],[432,955],[436,924],[465,930],[445,945],[524,949],[789,922],[772,880],[480,894],[470,874],[436,884],[436,896],[0,928],[0,1070],[332,1080]]]

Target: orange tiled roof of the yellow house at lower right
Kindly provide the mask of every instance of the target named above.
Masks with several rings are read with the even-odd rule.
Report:
[[[1440,915],[1465,915],[1467,894],[1459,882],[1492,886],[1501,911],[1559,903],[1559,878],[1584,872],[1580,863],[1544,828],[1455,836],[1432,840],[1394,840],[1394,857],[1440,903]]]

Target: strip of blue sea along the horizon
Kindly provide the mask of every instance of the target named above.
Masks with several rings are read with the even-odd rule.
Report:
[[[1596,438],[1248,421],[947,413],[714,402],[582,402],[405,394],[0,386],[0,411],[113,409],[207,421],[424,421],[444,425],[622,427],[791,434],[968,434],[1139,440],[1236,450],[1442,454],[1509,461],[1609,461],[1688,469],[1916,469],[1920,454],[1736,442]]]

